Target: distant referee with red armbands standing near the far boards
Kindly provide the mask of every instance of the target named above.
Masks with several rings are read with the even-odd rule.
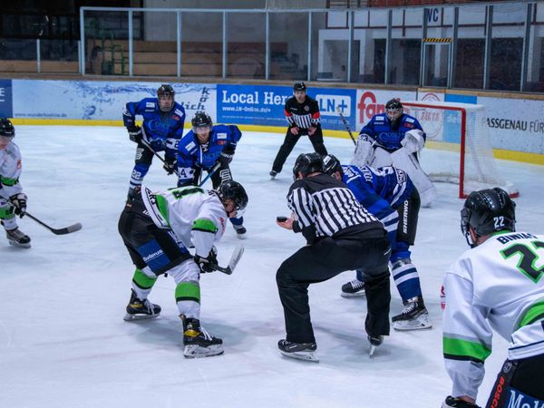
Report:
[[[295,83],[293,86],[294,96],[287,99],[285,115],[289,127],[287,128],[286,139],[277,151],[276,159],[272,164],[270,177],[272,180],[277,173],[281,172],[283,165],[291,151],[296,145],[300,136],[308,136],[314,146],[314,151],[325,156],[327,154],[323,144],[323,131],[319,123],[319,105],[314,98],[306,94],[305,83]]]

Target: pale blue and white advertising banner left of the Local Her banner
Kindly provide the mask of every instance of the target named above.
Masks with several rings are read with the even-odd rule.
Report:
[[[216,118],[215,83],[171,83],[187,114]],[[160,83],[13,80],[13,117],[121,121],[127,102],[156,97]]]

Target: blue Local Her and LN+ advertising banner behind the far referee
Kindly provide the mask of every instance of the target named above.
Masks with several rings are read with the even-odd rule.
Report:
[[[345,126],[336,111],[339,107],[352,129],[355,129],[355,90],[310,88],[308,95],[316,99],[325,130],[343,131]],[[218,123],[286,126],[284,106],[293,96],[290,86],[218,84]]]

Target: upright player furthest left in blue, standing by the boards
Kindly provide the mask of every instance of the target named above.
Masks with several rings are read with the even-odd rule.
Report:
[[[136,124],[136,116],[141,115],[141,127]],[[157,98],[144,98],[140,102],[128,102],[122,112],[131,141],[137,143],[134,169],[131,175],[129,198],[132,190],[141,186],[141,182],[150,170],[153,151],[165,151],[164,169],[172,174],[176,169],[177,143],[183,135],[185,110],[174,101],[174,90],[168,84],[160,85]]]

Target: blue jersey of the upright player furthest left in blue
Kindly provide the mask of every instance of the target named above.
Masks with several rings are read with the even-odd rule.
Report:
[[[178,141],[183,136],[185,110],[174,102],[170,112],[160,111],[157,98],[144,98],[140,102],[128,102],[122,112],[124,125],[134,126],[136,115],[143,117],[141,125],[146,140],[155,151],[165,151],[167,158],[176,156]]]

